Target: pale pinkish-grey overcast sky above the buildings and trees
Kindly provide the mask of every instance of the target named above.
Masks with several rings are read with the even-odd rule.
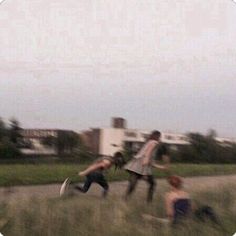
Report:
[[[6,0],[0,116],[236,137],[232,0]]]

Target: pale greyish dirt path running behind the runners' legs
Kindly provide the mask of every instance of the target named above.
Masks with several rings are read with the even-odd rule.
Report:
[[[225,184],[236,183],[236,175],[227,176],[210,176],[210,177],[192,177],[185,178],[185,187],[191,191],[219,188]],[[125,193],[127,181],[110,183],[110,195],[122,196]],[[165,180],[157,180],[157,187],[166,187]],[[19,200],[29,198],[51,198],[59,196],[59,184],[37,185],[37,186],[18,186],[11,188],[0,188],[0,201]],[[146,184],[140,181],[138,184],[138,192],[143,192],[146,189]],[[87,194],[99,196],[101,189],[96,184],[92,185]]]

